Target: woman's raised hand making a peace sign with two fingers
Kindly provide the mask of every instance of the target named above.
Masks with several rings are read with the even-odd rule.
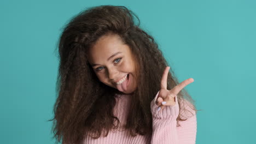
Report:
[[[172,88],[170,91],[167,89],[167,76],[170,67],[166,67],[164,70],[164,74],[162,74],[161,79],[161,89],[158,94],[158,98],[156,99],[156,105],[158,105],[158,111],[164,109],[165,106],[174,106],[176,104],[175,96],[189,83],[194,82],[193,78],[189,78],[179,83],[179,85]]]

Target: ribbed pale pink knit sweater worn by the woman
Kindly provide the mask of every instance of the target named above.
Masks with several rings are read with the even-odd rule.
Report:
[[[159,93],[159,92],[158,92]],[[196,141],[196,115],[195,112],[187,121],[180,121],[180,127],[176,127],[176,118],[179,114],[179,105],[176,100],[176,105],[165,106],[164,109],[157,111],[158,106],[155,100],[158,96],[156,94],[151,103],[151,112],[153,116],[153,134],[152,135],[137,135],[132,137],[128,130],[120,127],[111,130],[108,136],[101,136],[98,139],[92,139],[90,136],[85,135],[84,144],[106,144],[106,143],[124,143],[124,144],[143,144],[143,143],[168,143],[168,144],[192,144]],[[177,99],[177,96],[176,96]],[[131,103],[129,95],[119,95],[117,98],[117,105],[114,108],[114,115],[118,117],[120,125],[124,126],[126,123],[129,105]],[[187,106],[187,105],[186,105]],[[188,106],[187,106],[188,107]],[[189,109],[189,107],[188,107]],[[191,109],[190,109],[191,110]]]

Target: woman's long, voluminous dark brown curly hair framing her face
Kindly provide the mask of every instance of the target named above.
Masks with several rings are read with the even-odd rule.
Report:
[[[138,22],[135,22],[135,17]],[[124,6],[100,5],[90,7],[63,28],[59,39],[59,71],[56,82],[57,99],[54,105],[53,132],[56,142],[79,143],[86,133],[97,139],[104,132],[118,128],[120,122],[113,115],[115,97],[120,92],[97,79],[88,62],[88,50],[101,36],[119,35],[137,59],[137,89],[131,95],[129,116],[125,128],[132,136],[152,134],[150,102],[160,90],[164,69],[168,66],[154,38],[139,27],[139,19]],[[168,73],[167,89],[178,85],[172,69]],[[185,99],[195,110],[194,100],[182,89],[177,95],[180,113],[185,121]]]

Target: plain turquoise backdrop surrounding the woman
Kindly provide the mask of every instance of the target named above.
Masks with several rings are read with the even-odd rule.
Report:
[[[0,141],[51,139],[60,29],[86,7],[124,5],[196,101],[196,143],[255,143],[256,1],[1,1]]]

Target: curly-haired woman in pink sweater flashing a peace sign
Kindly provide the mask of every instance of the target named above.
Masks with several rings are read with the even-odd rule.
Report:
[[[59,41],[54,137],[62,143],[195,143],[196,109],[131,10],[82,11]]]

